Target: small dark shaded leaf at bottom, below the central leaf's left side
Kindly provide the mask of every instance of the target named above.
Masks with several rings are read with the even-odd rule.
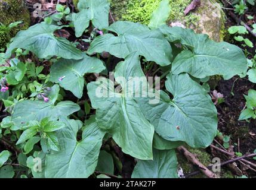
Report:
[[[112,175],[114,174],[114,162],[111,154],[104,150],[100,151],[96,170],[101,173],[109,173]]]

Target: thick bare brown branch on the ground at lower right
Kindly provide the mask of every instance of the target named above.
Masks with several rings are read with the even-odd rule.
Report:
[[[181,154],[184,154],[184,156],[187,158],[187,160],[189,160],[189,162],[197,166],[198,169],[208,178],[218,178],[215,173],[213,173],[211,170],[208,169],[208,167],[199,162],[199,160],[196,159],[195,155],[190,153],[190,151],[188,151],[185,147],[181,146],[178,147],[177,149],[178,151],[180,151]]]

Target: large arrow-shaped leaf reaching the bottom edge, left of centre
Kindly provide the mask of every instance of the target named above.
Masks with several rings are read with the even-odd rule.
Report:
[[[58,133],[60,151],[48,154],[45,161],[46,178],[88,178],[95,170],[103,137],[94,122],[85,128],[82,140],[76,135],[82,127],[80,121],[66,120],[66,128]]]

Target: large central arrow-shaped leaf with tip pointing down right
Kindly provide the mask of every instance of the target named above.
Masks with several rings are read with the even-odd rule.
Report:
[[[97,109],[96,120],[100,128],[112,133],[124,153],[149,160],[152,159],[153,125],[147,121],[133,97],[126,96],[129,88],[120,78],[132,76],[142,76],[146,80],[137,53],[132,53],[116,66],[115,78],[122,86],[122,93],[115,93],[112,81],[100,78],[87,85],[88,95],[92,107]],[[134,84],[131,83],[129,87],[133,88]],[[107,96],[100,96],[101,90]]]

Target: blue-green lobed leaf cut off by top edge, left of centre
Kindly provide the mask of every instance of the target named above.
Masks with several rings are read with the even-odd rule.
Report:
[[[82,36],[90,21],[98,29],[105,29],[109,26],[109,2],[107,0],[80,0],[78,9],[78,13],[72,14],[76,37]]]

